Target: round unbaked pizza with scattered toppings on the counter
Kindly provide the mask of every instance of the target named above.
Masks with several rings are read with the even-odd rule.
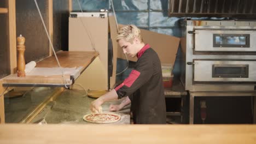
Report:
[[[84,121],[91,123],[114,123],[119,121],[121,116],[117,113],[89,113],[84,116]]]

